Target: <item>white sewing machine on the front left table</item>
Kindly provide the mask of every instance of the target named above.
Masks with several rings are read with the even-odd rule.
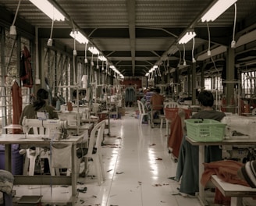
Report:
[[[25,116],[22,122],[23,132],[25,137],[30,135],[30,129],[34,134],[40,134],[44,138],[53,137],[55,139],[63,139],[63,130],[67,128],[67,121],[60,119],[27,119]]]

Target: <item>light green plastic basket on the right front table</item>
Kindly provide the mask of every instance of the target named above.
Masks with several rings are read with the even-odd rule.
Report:
[[[212,119],[185,119],[187,137],[195,141],[216,142],[222,141],[226,124]]]

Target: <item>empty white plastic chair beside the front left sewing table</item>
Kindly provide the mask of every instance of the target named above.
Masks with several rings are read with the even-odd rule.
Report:
[[[101,142],[103,140],[106,122],[107,122],[106,119],[102,120],[100,123],[94,126],[94,128],[91,130],[88,148],[77,150],[79,151],[79,153],[82,152],[82,157],[93,159],[94,166],[97,173],[98,185],[101,185],[101,182],[105,180],[105,172],[104,172],[104,166],[103,166],[102,154],[101,154]]]

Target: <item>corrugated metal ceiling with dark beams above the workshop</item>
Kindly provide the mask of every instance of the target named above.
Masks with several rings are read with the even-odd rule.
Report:
[[[39,0],[38,0],[39,1]],[[69,33],[79,28],[110,63],[124,76],[144,76],[152,66],[176,68],[186,59],[191,64],[193,41],[177,44],[180,37],[193,28],[197,33],[194,57],[197,64],[207,61],[208,27],[201,23],[202,14],[212,0],[52,0],[68,20],[55,22],[52,39],[74,48]],[[0,9],[16,12],[19,0],[0,0]],[[231,6],[214,22],[208,23],[210,47],[215,55],[226,51],[233,40],[235,9]],[[236,65],[251,62],[256,66],[256,1],[236,2]],[[2,13],[2,14],[1,14]],[[0,13],[0,19],[3,12]],[[1,16],[2,15],[2,16]],[[5,17],[6,18],[6,17]],[[52,20],[28,0],[20,2],[17,24],[25,20],[39,28],[39,36],[50,36]],[[254,32],[251,34],[251,32]],[[244,39],[242,39],[243,35]],[[250,34],[250,35],[249,35]],[[239,43],[240,41],[240,43]],[[223,47],[224,46],[224,47]],[[76,43],[78,55],[84,56],[84,44]],[[185,52],[184,52],[185,51]],[[89,55],[90,53],[87,52]],[[213,53],[212,53],[213,55]],[[221,57],[222,58],[222,57]]]

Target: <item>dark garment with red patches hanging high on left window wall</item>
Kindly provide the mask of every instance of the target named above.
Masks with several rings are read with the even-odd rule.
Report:
[[[26,46],[23,48],[23,54],[20,59],[20,80],[22,80],[23,87],[33,87],[31,55]]]

